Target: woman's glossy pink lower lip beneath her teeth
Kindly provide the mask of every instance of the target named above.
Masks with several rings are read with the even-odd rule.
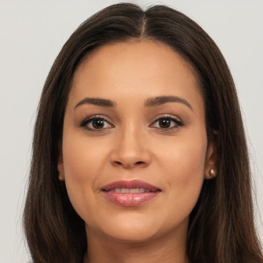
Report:
[[[160,191],[148,192],[148,193],[138,193],[138,194],[122,194],[115,192],[104,191],[107,199],[115,204],[121,206],[137,206],[147,201],[153,200],[157,197]]]

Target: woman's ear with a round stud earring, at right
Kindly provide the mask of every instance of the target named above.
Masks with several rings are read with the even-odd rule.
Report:
[[[216,154],[216,142],[215,139],[217,137],[217,134],[214,133],[213,138],[210,140],[208,144],[208,149],[206,151],[206,160],[204,165],[204,178],[205,179],[212,179],[216,177],[217,175],[217,154]],[[215,174],[210,175],[210,171],[214,170]]]

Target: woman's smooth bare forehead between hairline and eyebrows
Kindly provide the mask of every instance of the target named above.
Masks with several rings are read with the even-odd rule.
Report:
[[[200,97],[195,76],[191,64],[170,46],[153,41],[113,43],[96,48],[79,65],[69,99],[115,95],[195,99]]]

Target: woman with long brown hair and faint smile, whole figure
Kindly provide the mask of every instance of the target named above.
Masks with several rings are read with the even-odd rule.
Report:
[[[33,262],[263,262],[234,83],[195,22],[118,4],[70,36],[24,223]]]

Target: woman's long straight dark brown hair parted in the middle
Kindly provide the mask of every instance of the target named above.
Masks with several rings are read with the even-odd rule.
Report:
[[[208,34],[166,7],[109,6],[73,32],[55,60],[39,104],[24,228],[35,263],[82,262],[85,223],[72,208],[57,171],[58,145],[74,70],[94,48],[149,39],[174,48],[196,71],[208,138],[217,131],[217,177],[205,180],[190,215],[187,255],[197,263],[263,262],[255,233],[246,139],[231,73]]]

